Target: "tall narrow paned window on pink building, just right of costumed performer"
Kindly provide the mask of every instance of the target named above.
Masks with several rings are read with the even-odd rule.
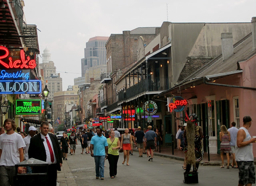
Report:
[[[214,100],[208,100],[208,126],[209,126],[209,136],[215,137],[215,110],[214,110]]]

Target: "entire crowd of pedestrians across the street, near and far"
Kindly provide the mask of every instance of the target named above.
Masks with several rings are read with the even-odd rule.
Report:
[[[185,172],[190,172],[193,166],[193,172],[198,171],[199,162],[204,157],[202,147],[203,134],[202,128],[197,125],[198,118],[196,114],[188,117],[187,123],[179,127],[177,137],[177,147],[183,150],[185,154],[184,164],[182,168]],[[230,166],[230,156],[232,154],[232,168],[239,169],[239,184],[251,185],[255,183],[254,156],[252,154],[252,143],[256,142],[256,138],[252,138],[248,132],[252,125],[250,116],[243,118],[243,126],[238,129],[236,123],[232,122],[229,129],[225,125],[220,127],[220,152],[222,165],[224,164],[224,153],[227,156],[227,166]],[[18,130],[17,130],[18,129]],[[124,160],[129,166],[130,154],[133,148],[138,148],[139,157],[147,154],[148,161],[153,161],[154,150],[160,146],[162,141],[161,133],[158,129],[152,131],[152,126],[148,126],[148,130],[134,130],[131,133],[129,129],[125,129],[124,134],[115,129],[107,133],[100,127],[96,129],[96,134],[88,129],[80,134],[63,133],[60,139],[60,145],[55,135],[50,131],[49,124],[42,122],[40,133],[35,127],[29,127],[28,135],[16,129],[16,124],[12,119],[6,119],[3,127],[0,127],[0,183],[1,185],[14,185],[15,164],[36,158],[48,162],[48,185],[56,185],[57,170],[60,170],[63,160],[67,159],[68,149],[70,155],[75,154],[77,139],[80,139],[83,154],[86,149],[86,154],[94,157],[96,179],[104,180],[105,160],[108,159],[110,178],[115,178],[117,175],[117,165],[119,154],[123,151]],[[17,133],[15,132],[17,130]],[[5,133],[6,131],[6,133]],[[38,133],[38,134],[37,134]],[[191,144],[193,144],[191,146]],[[193,148],[191,148],[193,147]],[[159,149],[159,148],[158,148]],[[194,154],[194,155],[193,155]],[[42,168],[26,167],[26,173],[42,172]],[[45,170],[46,171],[46,170]],[[23,173],[24,168],[18,167],[18,173]]]

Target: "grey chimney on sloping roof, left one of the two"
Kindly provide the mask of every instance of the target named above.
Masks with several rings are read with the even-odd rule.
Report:
[[[223,61],[234,53],[232,32],[221,33],[221,47]]]

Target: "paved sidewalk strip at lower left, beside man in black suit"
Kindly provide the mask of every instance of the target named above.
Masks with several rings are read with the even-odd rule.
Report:
[[[61,171],[57,171],[57,186],[77,186],[66,160],[63,160]]]

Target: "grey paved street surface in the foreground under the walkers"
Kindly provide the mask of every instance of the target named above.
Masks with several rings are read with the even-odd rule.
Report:
[[[123,153],[120,153],[118,160],[117,177],[111,179],[109,176],[109,164],[106,160],[105,180],[95,179],[94,158],[90,154],[80,154],[81,146],[76,148],[76,154],[70,156],[66,161],[70,172],[66,174],[70,177],[75,176],[75,182],[78,186],[82,185],[169,185],[178,186],[183,183],[184,175],[182,163],[178,160],[154,156],[154,161],[149,162],[148,158],[139,158],[138,152],[130,156],[130,166],[122,165]],[[65,165],[65,164],[64,164]],[[219,166],[200,166],[199,167],[198,186],[233,186],[238,184],[238,169],[219,168]],[[60,173],[58,173],[59,175]],[[126,183],[124,183],[124,181]],[[184,184],[185,185],[185,184]]]

